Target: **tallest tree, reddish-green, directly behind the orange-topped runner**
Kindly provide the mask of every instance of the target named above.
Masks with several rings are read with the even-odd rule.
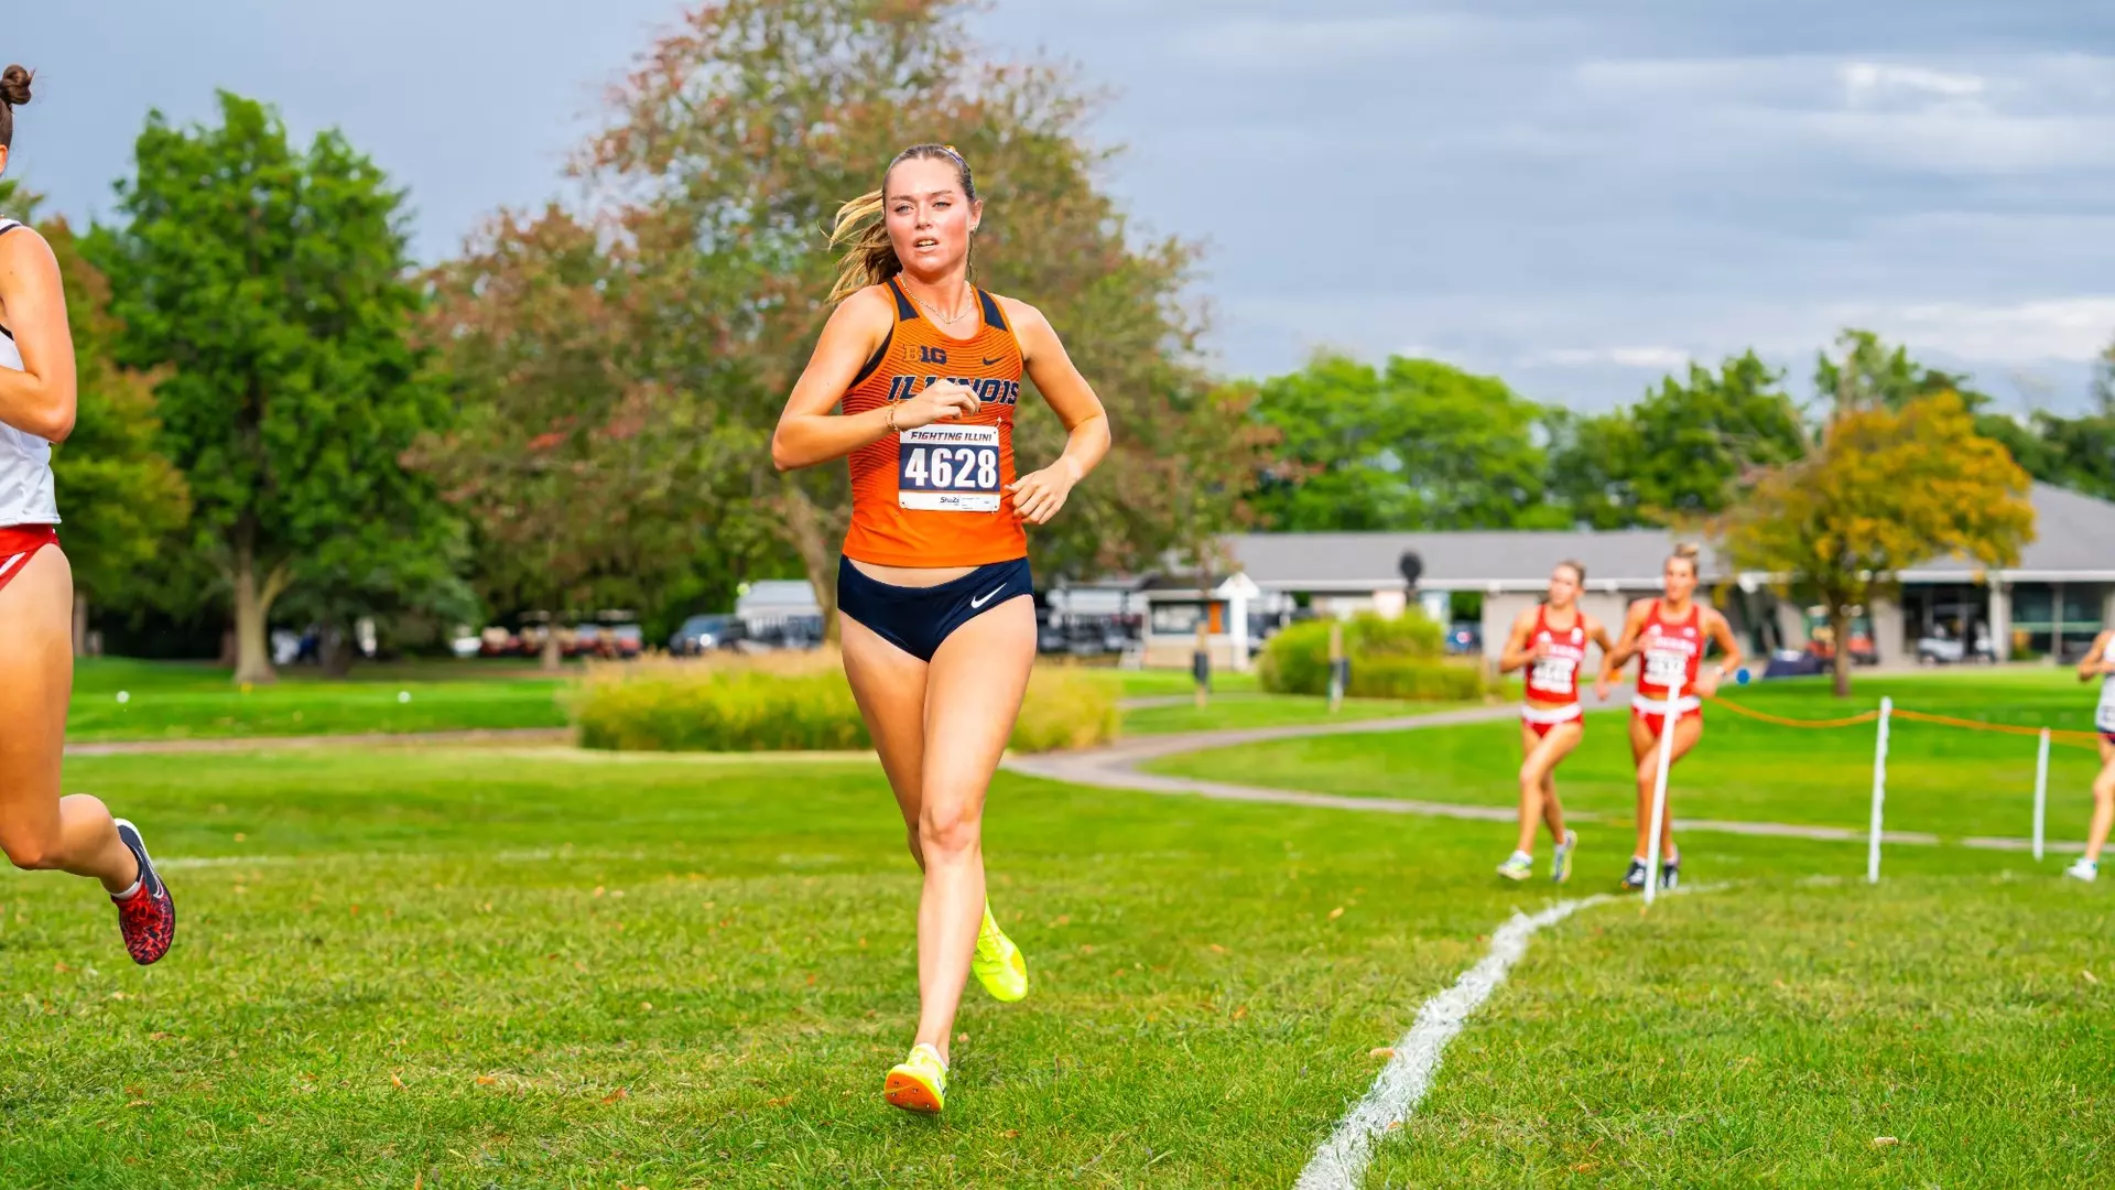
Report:
[[[825,227],[905,144],[950,142],[975,165],[988,203],[977,282],[1041,307],[1108,407],[1110,459],[1030,536],[1045,574],[1151,565],[1193,534],[1153,485],[1208,472],[1242,487],[1242,468],[1220,462],[1258,462],[1252,426],[1214,421],[1220,404],[1193,366],[1191,248],[1132,233],[1096,186],[1106,155],[1085,142],[1077,87],[992,61],[969,38],[971,8],[702,4],[641,57],[582,161],[592,193],[624,197],[603,222],[628,244],[643,318],[630,364],[666,392],[711,396],[713,489],[766,515],[825,610],[850,512],[844,468],[776,474],[766,445],[829,313]],[[1041,400],[1019,409],[1015,447],[1038,466],[1062,426]],[[1239,491],[1195,508],[1237,504]]]

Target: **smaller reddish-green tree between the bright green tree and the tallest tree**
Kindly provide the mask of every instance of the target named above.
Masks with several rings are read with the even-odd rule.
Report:
[[[495,218],[431,273],[423,337],[459,415],[412,462],[476,527],[495,606],[651,608],[698,587],[700,555],[755,553],[749,502],[715,489],[723,451],[749,443],[719,432],[711,400],[736,381],[711,362],[687,383],[656,375],[641,271],[626,237],[550,208]]]

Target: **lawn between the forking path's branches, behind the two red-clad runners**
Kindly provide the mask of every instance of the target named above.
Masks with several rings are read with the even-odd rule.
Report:
[[[2092,728],[2096,688],[2068,673],[1982,671],[1861,678],[1851,703],[1825,684],[1772,682],[1726,697],[1787,718],[1834,718],[1897,705],[1988,722]],[[1872,809],[1874,726],[1798,731],[1705,709],[1705,739],[1673,771],[1681,817],[1798,822],[1863,828]],[[1629,724],[1622,711],[1588,716],[1586,739],[1557,775],[1567,809],[1629,822],[1635,813]],[[1258,743],[1153,764],[1161,773],[1332,794],[1514,805],[1519,726],[1512,720],[1387,737]],[[2081,747],[2049,750],[2049,839],[2081,841],[2088,788],[2100,760]],[[2035,739],[1895,722],[1889,743],[1887,826],[1942,836],[2018,836],[2033,830]],[[1605,830],[1588,826],[1586,834]]]

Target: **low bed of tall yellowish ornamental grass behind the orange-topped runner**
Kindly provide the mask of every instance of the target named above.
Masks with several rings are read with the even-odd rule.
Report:
[[[582,747],[611,752],[838,752],[873,747],[835,654],[596,665],[571,699]],[[1036,667],[1015,752],[1117,737],[1117,688]]]

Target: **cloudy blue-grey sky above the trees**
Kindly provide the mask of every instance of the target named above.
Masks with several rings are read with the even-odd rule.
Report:
[[[673,13],[27,4],[0,30],[44,72],[15,165],[108,210],[144,112],[231,87],[341,125],[410,186],[434,258],[560,193],[603,85]],[[2077,409],[2115,339],[2111,4],[996,0],[977,30],[1110,93],[1108,184],[1208,246],[1227,371],[1428,354],[1595,409],[1749,345],[1804,392],[1861,324]]]

